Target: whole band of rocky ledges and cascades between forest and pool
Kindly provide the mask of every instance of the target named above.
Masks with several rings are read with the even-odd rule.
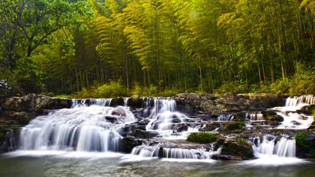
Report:
[[[7,98],[2,106],[1,152],[114,151],[215,160],[248,160],[259,158],[257,154],[311,158],[315,155],[313,105],[313,96],[284,99],[271,94],[76,100],[29,94]],[[202,142],[187,141],[193,134]]]

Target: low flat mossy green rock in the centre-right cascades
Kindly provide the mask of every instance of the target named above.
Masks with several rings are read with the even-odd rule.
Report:
[[[189,142],[197,142],[197,143],[211,143],[216,142],[220,139],[219,134],[212,134],[210,132],[199,132],[199,133],[191,133],[187,141]]]

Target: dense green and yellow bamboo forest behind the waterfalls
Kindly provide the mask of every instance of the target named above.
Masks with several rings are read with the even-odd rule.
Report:
[[[1,0],[0,16],[19,94],[315,93],[314,0]]]

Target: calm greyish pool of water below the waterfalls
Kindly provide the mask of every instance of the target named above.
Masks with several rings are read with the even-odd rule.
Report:
[[[260,159],[259,159],[260,160]],[[175,160],[115,153],[17,151],[0,155],[0,177],[314,177],[315,161]],[[275,159],[276,161],[277,159]],[[266,163],[270,161],[270,163]],[[285,165],[282,165],[283,164]]]

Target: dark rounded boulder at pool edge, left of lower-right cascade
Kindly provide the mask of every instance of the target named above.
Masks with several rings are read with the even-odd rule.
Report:
[[[221,155],[231,155],[242,159],[252,158],[252,144],[243,138],[227,139],[223,143]]]

